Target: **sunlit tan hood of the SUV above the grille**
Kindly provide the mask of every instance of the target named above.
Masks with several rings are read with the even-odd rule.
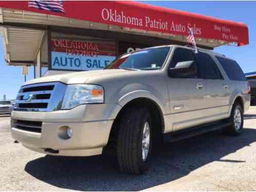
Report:
[[[134,73],[134,72],[136,71],[123,70],[123,69],[82,71],[82,72],[40,77],[40,78],[27,81],[24,85],[33,84],[33,83],[54,82],[54,81],[60,81],[66,84],[83,84],[83,83],[86,83],[88,79],[94,78],[94,77],[102,77],[102,76],[106,77],[106,76],[112,76],[115,74],[120,75],[122,73]]]

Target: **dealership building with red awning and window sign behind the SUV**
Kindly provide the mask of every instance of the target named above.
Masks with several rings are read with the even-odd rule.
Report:
[[[138,2],[1,1],[5,59],[34,77],[98,70],[121,54],[159,45],[249,44],[245,24]]]

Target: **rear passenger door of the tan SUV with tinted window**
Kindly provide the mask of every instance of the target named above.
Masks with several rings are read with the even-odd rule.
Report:
[[[206,83],[206,121],[214,121],[223,118],[222,107],[229,102],[229,84],[225,82],[223,75],[218,69],[213,58],[204,52],[199,51],[195,55],[200,77]]]

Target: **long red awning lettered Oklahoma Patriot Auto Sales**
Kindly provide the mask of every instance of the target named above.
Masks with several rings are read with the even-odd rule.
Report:
[[[224,19],[141,4],[138,2],[64,1],[65,12],[31,8],[28,1],[1,1],[0,7],[86,20],[119,27],[188,36],[192,28],[195,37],[249,44],[245,24]],[[39,4],[39,7],[47,7]]]

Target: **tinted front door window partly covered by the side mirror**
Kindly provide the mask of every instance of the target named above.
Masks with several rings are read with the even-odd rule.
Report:
[[[193,61],[194,57],[192,52],[189,49],[183,49],[183,48],[177,48],[174,51],[174,54],[172,56],[172,60],[170,62],[169,68],[175,68],[178,62],[182,61]],[[193,74],[177,74],[173,78],[197,78],[197,66],[196,62],[193,63],[193,66],[195,73]]]

